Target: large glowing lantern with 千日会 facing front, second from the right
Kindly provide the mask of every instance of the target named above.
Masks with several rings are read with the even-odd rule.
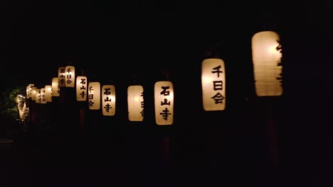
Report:
[[[226,108],[226,70],[223,60],[208,58],[201,63],[202,101],[205,111]]]

